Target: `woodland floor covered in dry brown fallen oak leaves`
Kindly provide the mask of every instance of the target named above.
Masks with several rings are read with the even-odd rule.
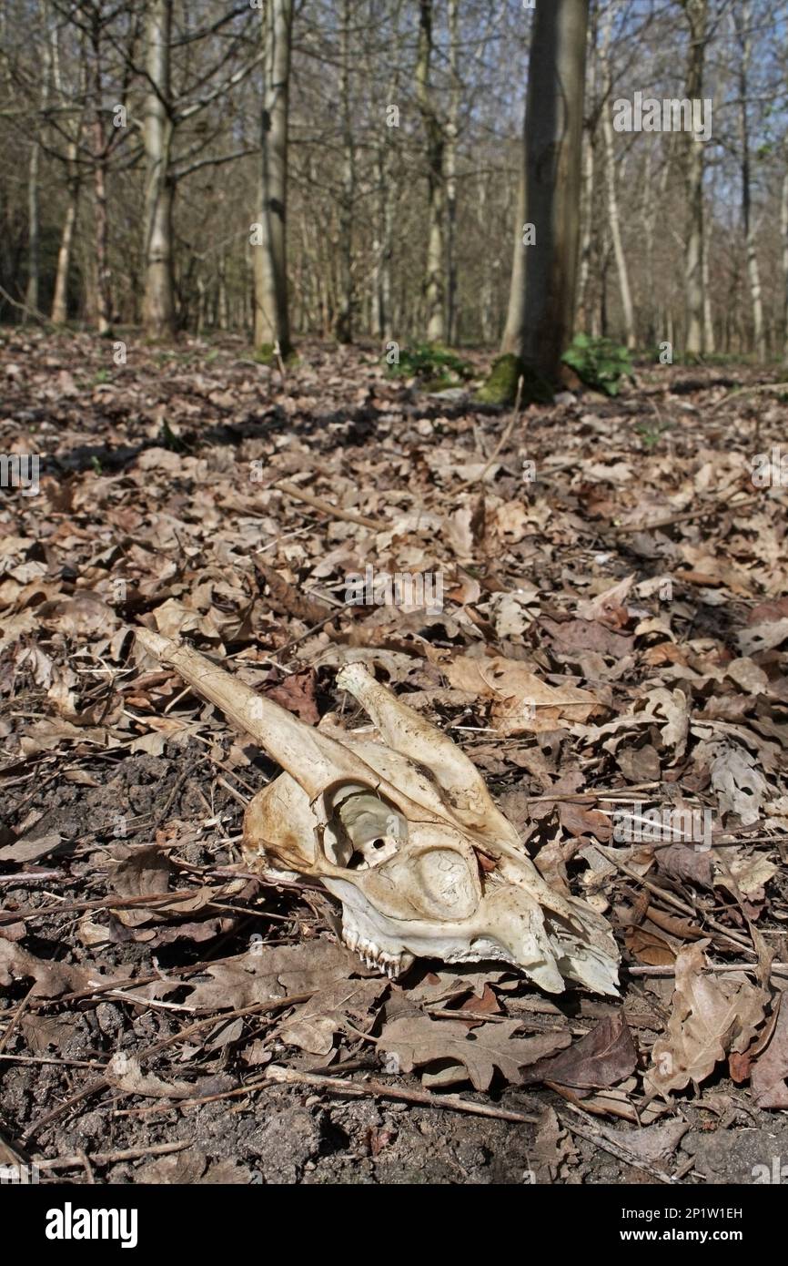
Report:
[[[0,492],[0,1163],[763,1181],[788,1160],[788,490],[750,463],[787,451],[785,392],[753,390],[780,372],[640,367],[619,399],[527,410],[489,466],[508,414],[392,382],[372,351],[301,353],[283,382],[230,339],[115,366],[89,337],[0,337],[0,452],[43,457],[38,495]],[[440,573],[443,613],[344,606],[367,566]],[[274,767],[137,658],[139,622],[310,723],[348,711],[342,663],[371,665],[463,746],[543,874],[605,910],[621,999],[495,963],[390,984],[319,890],[233,871]],[[538,719],[524,670],[555,691]],[[711,810],[712,849],[616,842],[639,803]],[[750,970],[708,970],[731,963]],[[512,1071],[540,1036],[558,1053]],[[465,1066],[479,1037],[488,1066]],[[659,1082],[665,1052],[683,1086]],[[272,1062],[436,1101],[281,1085]]]

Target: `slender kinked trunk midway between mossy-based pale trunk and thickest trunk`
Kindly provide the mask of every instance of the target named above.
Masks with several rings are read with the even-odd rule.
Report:
[[[433,0],[420,0],[419,56],[416,61],[416,94],[426,130],[428,162],[428,228],[426,277],[424,298],[426,305],[426,337],[431,343],[443,343],[446,337],[445,315],[445,137],[435,106],[430,71],[433,63]]]

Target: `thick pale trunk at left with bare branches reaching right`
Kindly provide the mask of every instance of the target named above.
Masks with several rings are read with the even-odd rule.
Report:
[[[149,338],[175,334],[172,275],[172,210],[175,182],[169,170],[172,144],[169,56],[172,0],[149,0],[147,28],[145,211],[143,324]]]

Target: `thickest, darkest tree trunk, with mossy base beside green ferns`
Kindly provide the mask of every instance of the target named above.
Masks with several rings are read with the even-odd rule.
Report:
[[[588,0],[536,6],[519,223],[520,234],[526,219],[535,225],[536,242],[524,246],[519,237],[525,265],[512,273],[503,351],[550,381],[574,315],[587,29]]]

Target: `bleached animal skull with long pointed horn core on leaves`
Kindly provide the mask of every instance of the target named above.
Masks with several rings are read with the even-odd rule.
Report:
[[[544,881],[464,753],[359,663],[336,684],[374,729],[349,733],[305,725],[186,646],[137,637],[282,766],[247,808],[245,860],[319,879],[369,966],[395,977],[414,958],[498,960],[549,993],[569,979],[616,994],[607,922]]]

